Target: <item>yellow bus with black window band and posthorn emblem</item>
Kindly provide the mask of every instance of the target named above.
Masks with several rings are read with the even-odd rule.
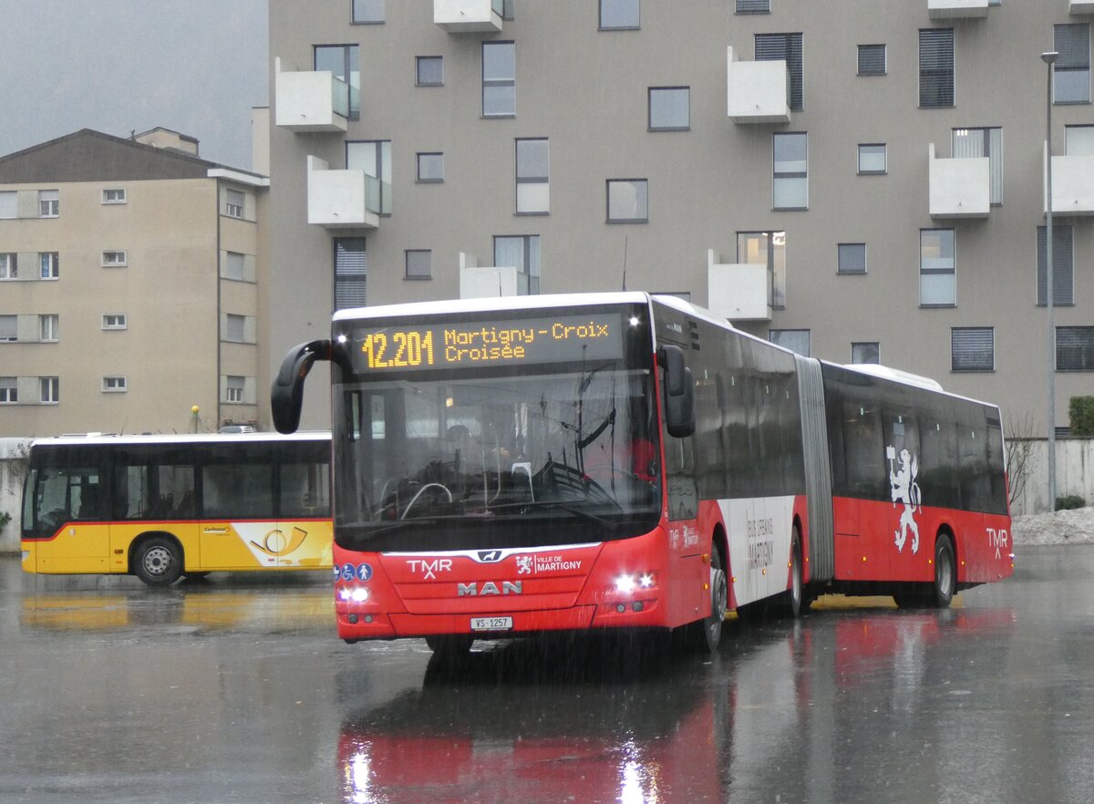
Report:
[[[152,586],[330,567],[330,434],[62,436],[31,447],[23,569]]]

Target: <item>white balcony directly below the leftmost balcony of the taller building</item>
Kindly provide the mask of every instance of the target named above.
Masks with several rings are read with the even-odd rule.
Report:
[[[325,229],[376,229],[391,211],[392,186],[364,171],[331,171],[307,158],[307,222]]]

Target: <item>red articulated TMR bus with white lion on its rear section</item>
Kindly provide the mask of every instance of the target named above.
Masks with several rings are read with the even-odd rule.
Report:
[[[1012,572],[999,409],[640,292],[346,310],[333,363],[347,641],[682,629],[817,594],[947,606]]]

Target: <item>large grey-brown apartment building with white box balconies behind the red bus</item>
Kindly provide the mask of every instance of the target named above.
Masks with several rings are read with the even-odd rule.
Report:
[[[1045,432],[1051,362],[1066,426],[1094,393],[1092,14],[271,0],[268,368],[336,307],[626,286],[934,377],[1014,434]]]

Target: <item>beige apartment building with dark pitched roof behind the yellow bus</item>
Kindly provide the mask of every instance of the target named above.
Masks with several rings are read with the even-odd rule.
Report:
[[[257,421],[267,187],[166,129],[0,159],[0,435]]]

